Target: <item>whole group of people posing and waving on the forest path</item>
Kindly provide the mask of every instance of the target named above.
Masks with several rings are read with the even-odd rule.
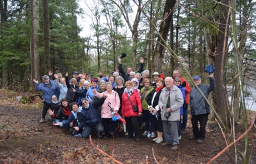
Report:
[[[127,139],[138,142],[142,134],[156,144],[170,145],[176,150],[182,134],[186,133],[190,104],[193,126],[190,140],[203,142],[209,105],[201,93],[208,98],[215,88],[213,73],[209,73],[209,85],[203,85],[201,77],[195,75],[193,81],[197,87],[192,89],[178,70],[173,71],[172,77],[164,78],[154,72],[150,78],[150,71],[142,71],[143,58],[137,72],[132,67],[125,72],[122,58],[118,61],[118,69],[105,77],[101,72],[91,78],[90,73],[74,71],[68,79],[68,72],[63,77],[49,71],[41,84],[34,79],[37,91],[43,92],[39,122],[46,122],[48,112],[55,126],[72,130],[75,137],[88,138],[91,134],[98,138],[120,138],[124,131]],[[145,131],[140,133],[142,129]]]

